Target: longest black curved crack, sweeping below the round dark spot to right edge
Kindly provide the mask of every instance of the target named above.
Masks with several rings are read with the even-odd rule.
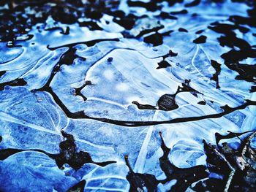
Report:
[[[239,105],[238,107],[223,107],[223,112],[211,114],[211,115],[203,115],[197,117],[188,117],[188,118],[174,118],[172,120],[162,120],[162,121],[130,121],[130,120],[113,120],[108,118],[94,118],[86,115],[83,111],[79,112],[70,112],[68,108],[64,105],[64,103],[59,99],[59,97],[54,93],[52,88],[48,88],[48,93],[53,96],[54,101],[56,104],[61,107],[61,110],[65,112],[68,118],[72,119],[91,119],[91,120],[98,120],[100,122],[115,124],[118,126],[127,126],[127,127],[138,127],[138,126],[156,126],[160,124],[173,124],[173,123],[185,123],[185,122],[193,122],[197,120],[205,120],[211,118],[221,118],[224,115],[230,114],[231,112],[235,112],[236,110],[244,110],[249,105],[256,105],[256,101],[245,100],[244,104]]]

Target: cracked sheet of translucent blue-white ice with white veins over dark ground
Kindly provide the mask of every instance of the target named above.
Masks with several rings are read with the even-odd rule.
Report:
[[[169,7],[163,2],[162,5],[165,12],[184,9],[184,4]],[[228,69],[220,57],[230,47],[220,46],[217,42],[220,34],[207,28],[216,20],[228,23],[225,20],[230,15],[246,16],[248,7],[245,4],[203,1],[200,6],[191,7],[187,15],[178,15],[178,20],[157,18],[159,10],[148,12],[145,8],[128,7],[126,2],[122,2],[119,9],[127,13],[134,11],[138,16],[145,13],[149,18],[146,19],[151,20],[138,19],[135,23],[138,26],[130,30],[132,36],[137,36],[141,28],[145,29],[145,23],[159,26],[157,21],[164,26],[159,33],[173,32],[163,37],[162,45],[153,46],[143,42],[143,37],[148,34],[124,37],[121,33],[124,28],[115,23],[112,16],[104,14],[97,21],[102,31],[90,31],[87,27],[72,24],[69,25],[69,35],[64,35],[59,30],[40,31],[37,26],[42,28],[43,24],[37,24],[29,31],[34,35],[32,39],[17,42],[22,47],[10,48],[6,42],[0,42],[0,71],[6,71],[0,77],[1,85],[16,79],[26,81],[26,85],[17,87],[7,83],[0,91],[0,148],[59,153],[60,131],[64,130],[75,137],[78,149],[90,153],[94,161],[117,163],[104,167],[85,164],[75,171],[67,164],[64,169],[59,169],[55,161],[43,153],[16,153],[0,161],[0,174],[4,175],[0,177],[0,191],[67,191],[82,179],[86,180],[84,191],[128,191],[124,155],[129,155],[134,172],[165,179],[159,167],[162,156],[159,131],[171,148],[170,161],[180,168],[187,168],[206,164],[203,139],[215,143],[216,132],[255,130],[255,106],[207,118],[207,115],[225,111],[221,108],[225,105],[238,107],[245,99],[256,99],[255,93],[249,92],[254,82],[236,80],[238,72]],[[193,15],[195,12],[198,15]],[[178,28],[186,28],[189,33],[178,31]],[[199,30],[205,31],[195,34]],[[246,34],[239,31],[237,34],[255,45],[255,37],[252,37],[255,32],[255,28],[250,28]],[[201,35],[207,37],[206,43],[193,43]],[[92,46],[84,43],[95,39],[109,40]],[[61,64],[53,74],[61,55],[69,50],[67,45],[76,49],[76,58],[71,64]],[[165,58],[170,67],[157,69],[169,50],[178,55]],[[221,64],[220,88],[216,88],[217,82],[211,79],[216,72],[211,60]],[[247,58],[242,63],[254,64],[255,61],[255,58]],[[191,80],[189,87],[197,92],[178,93],[176,110],[158,110],[159,98],[175,94],[185,80]],[[91,83],[85,85],[86,81]],[[140,110],[133,101],[157,110]],[[206,101],[206,104],[198,104],[200,101]],[[71,114],[82,111],[84,116],[72,118],[66,114],[63,105]],[[206,118],[164,123],[176,118],[201,116]],[[128,126],[121,126],[120,121]],[[135,126],[129,127],[129,122],[133,121]],[[141,126],[140,122],[158,122],[159,125]],[[255,139],[252,146],[255,146]],[[160,184],[158,189],[167,191],[173,183],[174,180]]]

